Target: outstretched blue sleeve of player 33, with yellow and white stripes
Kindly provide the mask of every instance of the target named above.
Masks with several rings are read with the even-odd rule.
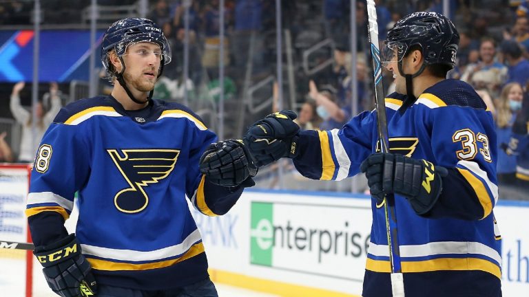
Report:
[[[301,131],[300,153],[295,168],[311,179],[341,180],[360,171],[360,164],[372,152],[374,111],[364,111],[342,129]]]

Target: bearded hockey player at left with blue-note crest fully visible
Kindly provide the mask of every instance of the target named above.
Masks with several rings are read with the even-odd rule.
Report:
[[[111,96],[61,109],[32,170],[26,214],[45,278],[63,297],[218,296],[185,196],[203,214],[225,214],[255,168],[242,142],[216,142],[193,111],[152,99],[171,61],[155,23],[111,25],[101,60]]]

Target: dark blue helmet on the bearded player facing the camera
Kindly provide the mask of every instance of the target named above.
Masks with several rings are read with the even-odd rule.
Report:
[[[115,50],[118,56],[122,56],[127,51],[128,45],[140,42],[160,45],[163,64],[171,62],[171,47],[158,25],[149,19],[127,18],[110,25],[103,36],[101,62],[105,69],[109,71],[108,53],[110,51]]]

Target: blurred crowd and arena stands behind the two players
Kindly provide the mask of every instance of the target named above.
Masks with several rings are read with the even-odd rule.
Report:
[[[449,75],[473,85],[495,116],[500,199],[529,200],[528,3],[375,3],[380,40],[411,12],[452,19],[461,42]],[[298,112],[302,129],[335,129],[374,107],[365,1],[1,0],[0,162],[31,162],[61,106],[110,94],[99,43],[125,17],[152,19],[171,43],[173,60],[154,98],[189,106],[220,139],[241,137],[280,109]],[[384,76],[386,94],[392,80]],[[262,168],[256,180],[268,189],[367,189],[362,176],[305,179],[287,160]]]

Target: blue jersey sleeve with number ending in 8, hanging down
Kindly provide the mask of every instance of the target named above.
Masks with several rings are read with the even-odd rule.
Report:
[[[68,235],[64,221],[76,190],[90,173],[90,151],[82,127],[53,123],[45,132],[31,173],[26,215],[35,245]]]

